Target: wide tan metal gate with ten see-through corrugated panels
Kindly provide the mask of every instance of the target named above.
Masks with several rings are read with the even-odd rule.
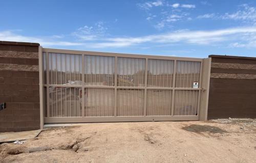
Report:
[[[206,119],[210,59],[40,51],[44,123]]]

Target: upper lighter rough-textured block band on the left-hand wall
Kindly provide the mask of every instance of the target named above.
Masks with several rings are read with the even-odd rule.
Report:
[[[0,57],[38,59],[38,52],[0,50]]]

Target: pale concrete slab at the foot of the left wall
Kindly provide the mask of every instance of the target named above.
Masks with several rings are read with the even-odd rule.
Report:
[[[41,132],[41,129],[32,130],[32,131],[22,131],[22,132],[0,132],[0,143],[8,143],[8,142],[33,139],[37,137],[40,132]]]

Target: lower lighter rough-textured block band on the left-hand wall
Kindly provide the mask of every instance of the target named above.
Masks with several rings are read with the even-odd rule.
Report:
[[[38,65],[0,64],[0,70],[39,71]]]

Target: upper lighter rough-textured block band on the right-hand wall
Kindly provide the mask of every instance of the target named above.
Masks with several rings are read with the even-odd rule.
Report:
[[[238,64],[238,63],[211,63],[212,68],[224,69],[253,69],[256,70],[256,65],[251,64]]]

